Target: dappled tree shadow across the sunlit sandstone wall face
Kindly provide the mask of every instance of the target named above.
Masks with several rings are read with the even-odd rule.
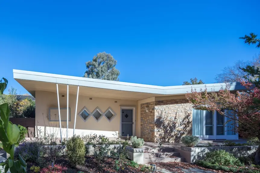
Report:
[[[187,111],[183,117],[178,116],[177,113],[173,117],[171,114],[161,111],[155,119],[155,141],[180,142],[183,135],[189,134],[191,123],[191,113]]]

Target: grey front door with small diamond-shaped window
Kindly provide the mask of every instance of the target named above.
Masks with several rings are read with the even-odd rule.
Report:
[[[121,112],[121,136],[133,135],[133,110],[122,109]]]

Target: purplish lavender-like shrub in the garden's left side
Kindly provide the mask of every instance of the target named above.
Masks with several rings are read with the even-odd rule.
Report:
[[[25,141],[20,144],[14,151],[14,157],[21,155],[25,161],[38,162],[43,156],[43,148],[38,142]]]

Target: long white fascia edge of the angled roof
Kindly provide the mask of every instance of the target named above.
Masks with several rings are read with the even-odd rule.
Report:
[[[27,81],[39,81],[58,83],[66,85],[85,86],[92,88],[103,88],[109,90],[118,91],[131,91],[139,93],[150,93],[150,94],[162,94],[162,95],[179,95],[190,92],[191,89],[205,89],[210,92],[212,90],[219,91],[221,88],[226,87],[226,83],[213,83],[213,84],[201,84],[201,85],[178,85],[178,86],[156,86],[156,85],[144,85],[128,82],[109,81],[102,79],[90,79],[76,76],[66,76],[51,73],[40,73],[25,70],[13,70],[14,79],[18,82],[20,80]],[[19,82],[20,83],[20,82]],[[22,85],[22,84],[21,84]],[[231,82],[230,91],[244,90],[245,88],[240,85],[239,82]],[[26,88],[27,89],[27,88]],[[28,90],[28,89],[27,89]]]

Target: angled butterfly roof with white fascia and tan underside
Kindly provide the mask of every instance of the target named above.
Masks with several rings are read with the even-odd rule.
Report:
[[[179,85],[179,86],[155,86],[128,82],[90,79],[84,77],[65,76],[50,73],[40,73],[24,70],[13,70],[14,79],[35,97],[35,91],[56,92],[56,84],[59,91],[66,93],[66,85],[69,85],[70,94],[76,94],[77,86],[80,86],[80,94],[90,97],[118,98],[125,100],[141,100],[148,97],[182,95],[191,89],[205,89],[219,91],[226,87],[226,83]],[[60,85],[64,84],[64,85]],[[231,91],[244,90],[239,82],[229,83]]]

